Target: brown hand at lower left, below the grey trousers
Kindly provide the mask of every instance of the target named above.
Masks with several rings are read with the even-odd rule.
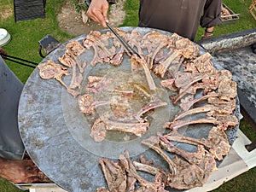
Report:
[[[0,177],[12,183],[38,183],[43,172],[32,160],[4,160],[0,158]]]

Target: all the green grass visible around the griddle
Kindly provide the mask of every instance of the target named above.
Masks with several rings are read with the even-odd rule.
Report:
[[[256,27],[256,21],[253,20],[253,16],[249,14],[248,8],[252,3],[251,0],[224,0],[223,1],[230,9],[236,14],[240,15],[240,19],[236,24],[230,24],[226,26],[216,26],[214,36],[224,35],[230,32],[239,32]],[[38,54],[38,41],[47,34],[53,35],[61,42],[66,42],[73,36],[68,35],[66,32],[62,32],[58,26],[56,15],[60,12],[61,6],[66,3],[63,0],[51,0],[46,3],[46,18],[37,20],[26,20],[15,23],[14,15],[11,14],[7,18],[1,17],[1,13],[5,13],[5,10],[13,10],[13,1],[1,0],[0,1],[0,27],[6,28],[12,36],[12,40],[9,44],[4,46],[4,49],[9,55],[14,55],[29,61],[42,61],[42,58]],[[126,0],[125,11],[126,17],[122,26],[137,26],[138,15],[137,10],[139,7],[138,0]],[[199,28],[196,38],[200,39],[204,29]],[[26,79],[32,73],[32,68],[20,66],[10,61],[6,61],[15,75],[23,82],[26,83]],[[254,141],[256,140],[256,132],[252,127],[247,124],[247,121],[241,120],[241,131],[243,131],[247,137]],[[256,189],[256,168],[251,169],[248,172],[241,174],[240,176],[230,180],[227,183],[221,185],[214,192],[254,192]],[[0,179],[0,191],[1,192],[21,192],[13,184]]]

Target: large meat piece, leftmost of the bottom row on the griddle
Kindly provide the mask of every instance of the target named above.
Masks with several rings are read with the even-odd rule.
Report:
[[[102,166],[102,172],[108,183],[108,189],[110,191],[125,192],[127,177],[122,164],[107,159],[100,159],[98,161]]]

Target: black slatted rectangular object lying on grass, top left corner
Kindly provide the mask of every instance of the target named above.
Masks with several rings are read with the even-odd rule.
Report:
[[[14,0],[15,22],[45,18],[46,0]]]

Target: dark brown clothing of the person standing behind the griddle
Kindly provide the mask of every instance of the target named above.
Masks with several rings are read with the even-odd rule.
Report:
[[[141,0],[138,26],[195,39],[198,26],[221,23],[221,0]]]

